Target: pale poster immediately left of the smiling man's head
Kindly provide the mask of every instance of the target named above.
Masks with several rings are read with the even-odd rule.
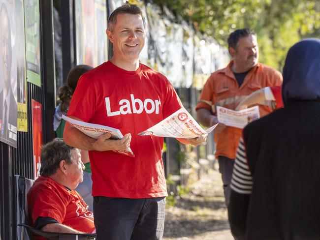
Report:
[[[107,2],[95,0],[95,66],[105,62],[108,57],[106,29]]]

